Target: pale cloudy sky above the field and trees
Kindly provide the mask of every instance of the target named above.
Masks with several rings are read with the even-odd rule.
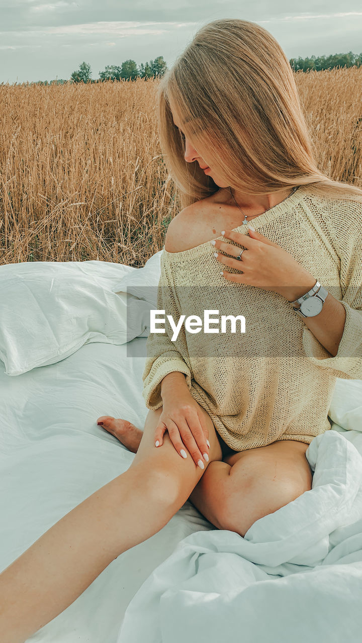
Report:
[[[362,52],[361,0],[0,0],[0,83],[70,78],[83,60],[93,78],[128,59],[171,67],[220,18],[260,24],[288,59]]]

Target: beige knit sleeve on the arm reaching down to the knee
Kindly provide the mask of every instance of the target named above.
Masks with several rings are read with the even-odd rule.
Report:
[[[164,328],[164,333],[150,332],[146,341],[146,361],[142,381],[144,388],[142,395],[147,408],[156,410],[162,406],[161,381],[172,372],[179,371],[186,376],[186,383],[191,390],[191,363],[187,351],[185,329],[182,325],[178,337],[172,341],[173,331],[167,320],[171,315],[175,323],[180,318],[178,300],[175,287],[172,283],[169,267],[166,265],[164,255],[160,258],[160,281],[157,289],[157,310],[165,311],[158,313],[158,319],[164,317],[164,325],[156,324],[158,328]]]

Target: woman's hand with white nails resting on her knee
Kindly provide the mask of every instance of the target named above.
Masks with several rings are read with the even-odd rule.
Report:
[[[196,466],[204,469],[204,461],[209,462],[209,430],[200,406],[186,387],[180,387],[172,395],[162,399],[162,413],[155,430],[155,446],[162,446],[164,433],[169,437],[180,457],[186,458],[188,449]]]

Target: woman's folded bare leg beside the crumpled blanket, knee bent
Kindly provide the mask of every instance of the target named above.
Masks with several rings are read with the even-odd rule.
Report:
[[[312,488],[308,446],[280,440],[211,462],[189,500],[218,529],[244,537],[254,522]]]

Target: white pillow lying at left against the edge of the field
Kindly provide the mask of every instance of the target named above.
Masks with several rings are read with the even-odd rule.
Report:
[[[0,266],[0,359],[17,376],[67,358],[82,345],[123,344],[145,331],[131,294],[114,292],[137,270],[102,261]]]

